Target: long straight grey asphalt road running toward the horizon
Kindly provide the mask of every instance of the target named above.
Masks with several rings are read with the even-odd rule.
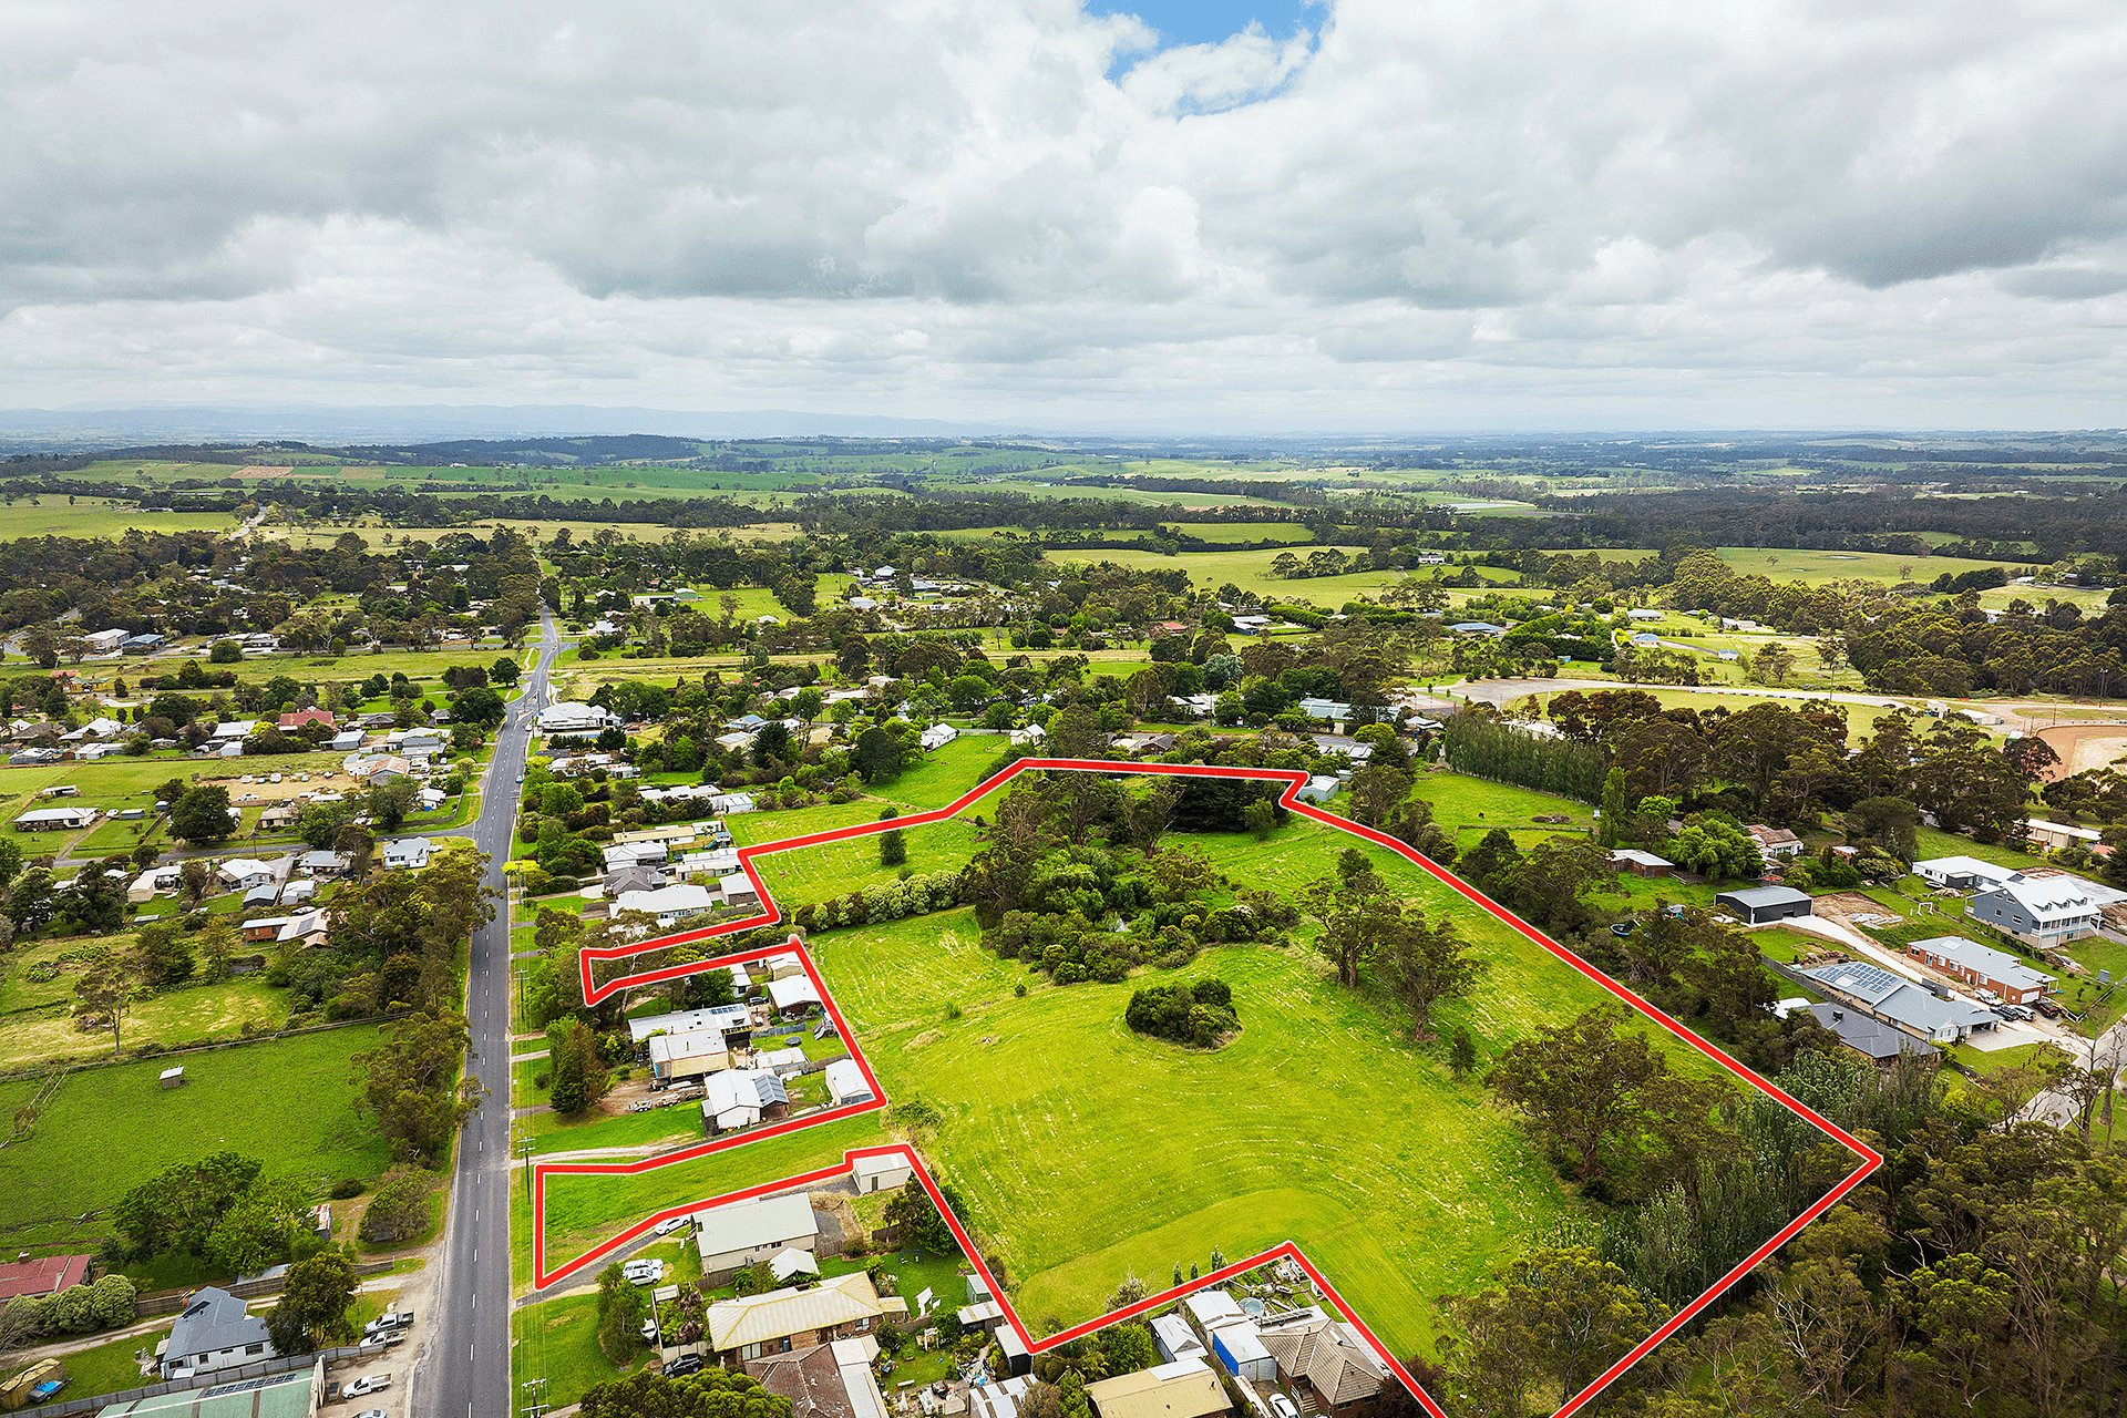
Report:
[[[523,697],[510,704],[487,770],[472,842],[489,853],[487,884],[502,889],[517,821],[517,776],[532,733],[523,712],[547,704],[547,670],[559,651],[549,617]],[[442,1233],[442,1276],[430,1288],[436,1329],[408,1380],[406,1412],[423,1418],[508,1418],[510,1403],[510,938],[502,912],[472,933],[466,1014],[468,1071],[491,1093],[466,1125]]]

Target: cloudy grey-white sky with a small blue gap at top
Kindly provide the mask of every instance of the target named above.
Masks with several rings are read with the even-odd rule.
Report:
[[[13,0],[0,404],[2118,427],[2123,72],[2118,0]]]

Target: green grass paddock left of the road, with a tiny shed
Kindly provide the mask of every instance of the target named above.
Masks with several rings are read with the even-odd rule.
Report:
[[[0,1248],[94,1250],[104,1235],[96,1212],[157,1169],[219,1148],[319,1182],[376,1178],[389,1152],[355,1116],[349,1069],[376,1040],[364,1025],[68,1076],[36,1133],[0,1152]],[[185,1065],[185,1086],[160,1088],[155,1076],[172,1063]],[[0,1114],[34,1088],[0,1084]]]

